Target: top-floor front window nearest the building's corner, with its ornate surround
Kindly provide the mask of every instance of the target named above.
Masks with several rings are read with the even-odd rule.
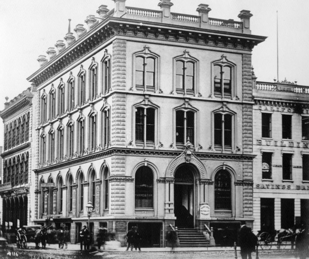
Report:
[[[137,90],[158,90],[159,60],[160,56],[150,51],[147,45],[142,51],[133,54],[133,86]]]

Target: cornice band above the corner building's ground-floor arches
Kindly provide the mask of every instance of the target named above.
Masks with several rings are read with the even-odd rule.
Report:
[[[101,151],[97,151],[82,157],[68,159],[56,164],[48,165],[38,169],[34,169],[35,174],[43,174],[46,172],[53,172],[61,170],[62,168],[73,167],[81,163],[90,162],[97,159],[107,158],[113,155],[122,156],[157,156],[162,158],[176,158],[183,150],[145,150],[145,149],[133,149],[133,148],[108,148]],[[212,159],[212,160],[231,160],[231,161],[252,161],[255,155],[251,154],[223,154],[223,153],[210,153],[210,152],[194,152],[194,155],[199,159]]]

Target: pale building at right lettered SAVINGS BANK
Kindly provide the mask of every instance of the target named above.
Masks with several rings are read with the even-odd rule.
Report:
[[[309,224],[309,87],[253,76],[254,231]]]

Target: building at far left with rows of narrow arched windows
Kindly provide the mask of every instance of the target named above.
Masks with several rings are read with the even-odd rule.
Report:
[[[31,86],[11,101],[7,101],[0,117],[4,123],[2,157],[2,228],[28,225],[33,221],[30,194],[34,193],[34,172],[31,170],[33,154],[33,116],[36,87]],[[8,100],[8,98],[6,98]],[[31,175],[31,173],[33,175]],[[33,182],[34,183],[34,182]]]

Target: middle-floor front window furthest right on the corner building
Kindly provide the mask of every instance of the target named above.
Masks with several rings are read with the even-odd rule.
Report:
[[[215,149],[230,150],[232,148],[232,118],[226,112],[214,114],[214,145]]]

